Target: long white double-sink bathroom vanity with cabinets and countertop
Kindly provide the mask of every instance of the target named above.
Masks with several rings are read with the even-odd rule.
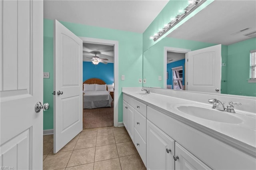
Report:
[[[123,123],[147,169],[256,169],[255,97],[147,89],[122,89]],[[243,107],[218,111],[212,98]]]

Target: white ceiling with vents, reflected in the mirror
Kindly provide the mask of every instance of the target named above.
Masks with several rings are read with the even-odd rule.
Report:
[[[250,28],[239,32],[244,28]],[[215,0],[168,37],[230,45],[256,31],[256,0]],[[232,35],[235,34],[235,35]]]

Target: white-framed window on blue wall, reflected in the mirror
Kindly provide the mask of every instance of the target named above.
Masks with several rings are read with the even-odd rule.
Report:
[[[183,69],[182,66],[172,68],[172,89],[182,90]]]

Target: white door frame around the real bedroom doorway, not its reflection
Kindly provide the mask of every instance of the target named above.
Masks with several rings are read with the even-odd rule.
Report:
[[[79,37],[83,42],[114,45],[114,127],[118,127],[118,41]]]

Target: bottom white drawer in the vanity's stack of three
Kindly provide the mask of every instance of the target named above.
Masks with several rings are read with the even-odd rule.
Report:
[[[146,166],[146,142],[142,139],[136,129],[134,129],[134,145],[140,154],[140,158]]]

